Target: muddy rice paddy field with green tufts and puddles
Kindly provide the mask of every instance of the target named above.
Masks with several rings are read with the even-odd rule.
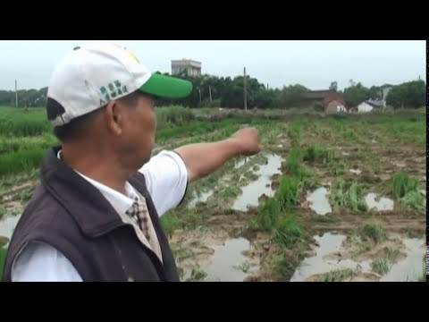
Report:
[[[161,218],[182,281],[426,281],[425,109],[156,114],[154,155],[244,126],[264,147],[191,183]],[[58,144],[43,110],[0,106],[0,266]]]

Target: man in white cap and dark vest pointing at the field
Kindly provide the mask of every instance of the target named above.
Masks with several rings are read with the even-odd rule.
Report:
[[[163,151],[155,98],[187,97],[185,80],[152,74],[123,47],[77,47],[50,80],[47,117],[62,147],[21,216],[4,281],[179,281],[159,222],[188,182],[260,151],[255,129]]]

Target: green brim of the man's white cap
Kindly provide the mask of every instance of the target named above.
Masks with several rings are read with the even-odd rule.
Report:
[[[154,73],[140,90],[156,97],[183,98],[189,96],[192,91],[192,83],[188,80]]]

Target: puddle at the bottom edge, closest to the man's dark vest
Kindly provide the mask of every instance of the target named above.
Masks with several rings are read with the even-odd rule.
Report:
[[[223,245],[211,246],[214,255],[208,267],[201,267],[206,273],[204,282],[243,282],[257,272],[257,266],[250,266],[243,251],[250,249],[250,242],[244,238],[226,241]],[[191,275],[191,269],[185,270],[184,280]]]

